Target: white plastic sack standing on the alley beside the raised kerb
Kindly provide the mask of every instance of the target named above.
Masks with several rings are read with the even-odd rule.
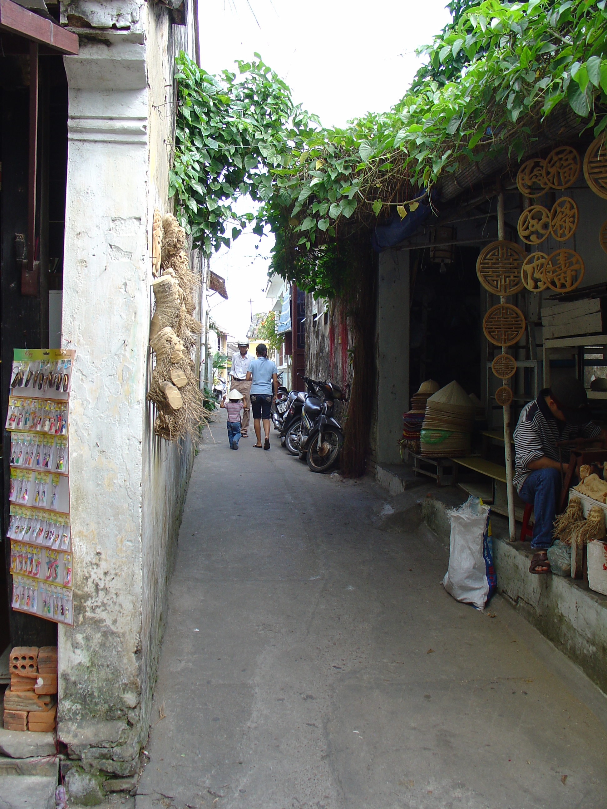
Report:
[[[443,586],[457,601],[478,609],[485,608],[496,586],[490,511],[489,506],[473,497],[449,511],[451,547]]]

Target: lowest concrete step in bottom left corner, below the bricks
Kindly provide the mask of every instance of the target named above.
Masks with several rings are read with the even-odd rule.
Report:
[[[58,774],[58,756],[26,759],[0,757],[2,809],[55,809]]]

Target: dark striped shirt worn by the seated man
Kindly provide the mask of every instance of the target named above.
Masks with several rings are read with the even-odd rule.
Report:
[[[571,441],[575,438],[598,438],[601,427],[588,421],[586,424],[573,425],[565,421],[558,421],[550,413],[545,403],[549,389],[540,391],[540,395],[533,402],[525,404],[520,412],[519,423],[514,431],[514,446],[516,450],[516,468],[514,485],[520,492],[527,479],[529,464],[538,458],[550,458],[559,463],[557,441]],[[565,463],[568,453],[565,453]]]

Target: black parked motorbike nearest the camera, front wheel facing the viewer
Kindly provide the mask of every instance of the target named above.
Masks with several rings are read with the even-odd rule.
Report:
[[[308,396],[304,401],[299,434],[299,458],[308,461],[312,472],[327,472],[337,461],[343,446],[342,426],[333,418],[335,400],[346,399],[332,382],[305,379]]]

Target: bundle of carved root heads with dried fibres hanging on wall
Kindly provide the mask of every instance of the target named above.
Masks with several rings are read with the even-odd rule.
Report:
[[[186,248],[185,231],[176,218],[168,214],[160,221],[155,211],[152,265],[154,270],[158,265],[160,274],[152,282],[155,312],[150,345],[156,362],[146,398],[158,411],[155,435],[166,441],[179,441],[189,435],[197,442],[198,426],[207,415],[193,363],[197,335],[202,329],[193,317],[193,295],[200,279],[189,269]]]

